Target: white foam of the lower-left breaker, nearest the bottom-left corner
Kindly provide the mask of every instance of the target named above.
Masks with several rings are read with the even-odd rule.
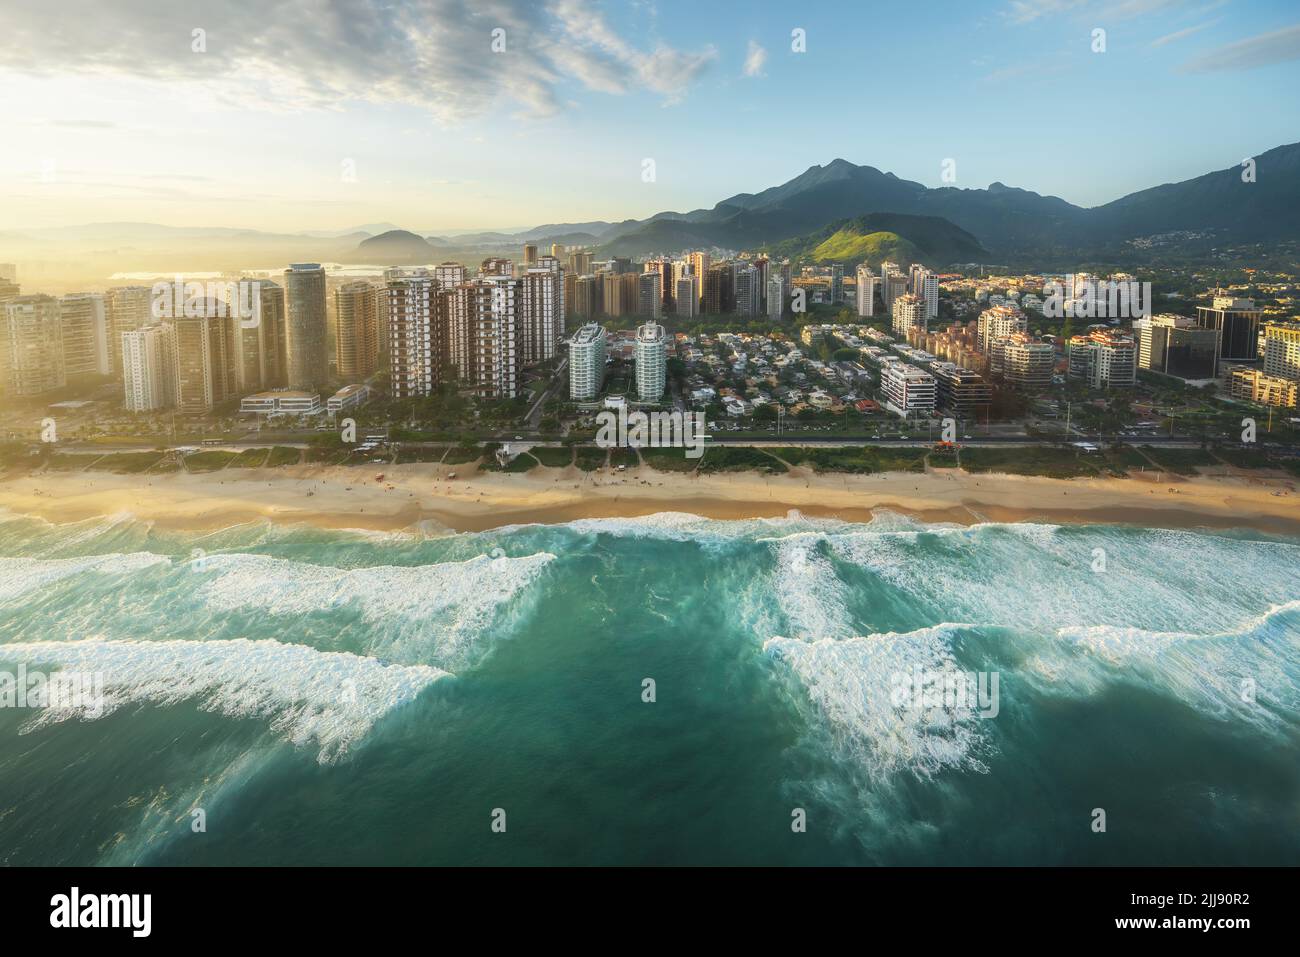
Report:
[[[382,664],[343,651],[278,641],[30,641],[0,645],[0,661],[53,664],[103,675],[100,702],[47,707],[31,731],[68,719],[92,719],[126,705],[196,701],[205,711],[259,718],[295,746],[317,746],[337,761],[380,718],[413,701],[447,675],[426,664]]]

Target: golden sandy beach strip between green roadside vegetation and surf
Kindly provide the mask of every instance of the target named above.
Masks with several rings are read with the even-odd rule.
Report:
[[[712,519],[805,515],[868,521],[887,508],[924,521],[1113,523],[1164,528],[1252,528],[1300,534],[1295,480],[1258,477],[1037,478],[927,473],[688,476],[472,465],[225,469],[204,475],[38,472],[0,480],[0,507],[49,521],[130,514],[165,528],[209,531],[272,520],[394,531],[436,523],[451,531],[690,512]],[[456,477],[448,475],[455,471]],[[1280,494],[1278,494],[1280,493]]]

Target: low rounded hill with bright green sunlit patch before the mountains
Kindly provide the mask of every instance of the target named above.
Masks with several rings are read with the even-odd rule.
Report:
[[[944,267],[972,263],[989,254],[965,229],[937,216],[870,213],[835,222],[794,239],[767,247],[771,256],[805,263],[893,260],[900,265],[923,263]]]

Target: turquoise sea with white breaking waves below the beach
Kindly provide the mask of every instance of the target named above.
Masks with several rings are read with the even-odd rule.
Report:
[[[0,515],[0,674],[105,696],[0,707],[0,862],[1297,863],[1297,572],[1257,533],[889,514]],[[916,668],[996,672],[996,716],[900,706]]]

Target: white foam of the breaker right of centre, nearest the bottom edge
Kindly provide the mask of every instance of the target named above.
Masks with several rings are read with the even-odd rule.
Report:
[[[872,778],[904,768],[922,778],[945,768],[985,771],[974,710],[898,706],[892,698],[898,676],[953,668],[953,635],[968,627],[820,641],[772,637],[763,650],[793,671],[836,744]]]

